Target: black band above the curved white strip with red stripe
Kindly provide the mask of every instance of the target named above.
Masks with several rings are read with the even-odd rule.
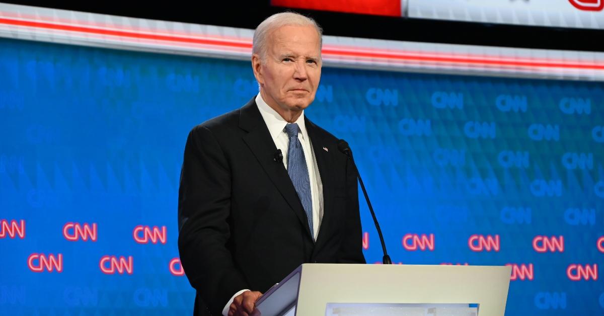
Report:
[[[4,1],[37,7],[104,13],[135,18],[255,28],[266,16],[283,11],[264,1]],[[312,16],[324,33],[335,36],[410,40],[503,47],[604,51],[604,30],[522,27],[425,19],[391,18],[296,10]]]

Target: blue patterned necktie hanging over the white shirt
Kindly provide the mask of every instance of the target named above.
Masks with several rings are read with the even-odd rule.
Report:
[[[288,149],[288,174],[292,179],[298,198],[302,202],[306,218],[308,219],[308,227],[310,235],[314,239],[314,231],[312,229],[312,196],[310,195],[310,180],[308,169],[306,167],[306,158],[304,158],[304,150],[298,139],[298,131],[300,127],[296,123],[288,123],[285,126],[285,131],[288,132],[289,149]]]

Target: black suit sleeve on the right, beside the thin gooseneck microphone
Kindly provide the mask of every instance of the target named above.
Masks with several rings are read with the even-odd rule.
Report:
[[[359,189],[354,168],[352,161],[346,160],[346,223],[345,236],[338,255],[339,263],[365,263],[362,251]]]

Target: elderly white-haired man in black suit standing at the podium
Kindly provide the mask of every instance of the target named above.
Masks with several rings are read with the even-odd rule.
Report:
[[[278,13],[254,33],[260,93],[193,128],[178,246],[196,315],[248,315],[302,263],[365,263],[352,163],[304,116],[321,77],[321,28]]]

